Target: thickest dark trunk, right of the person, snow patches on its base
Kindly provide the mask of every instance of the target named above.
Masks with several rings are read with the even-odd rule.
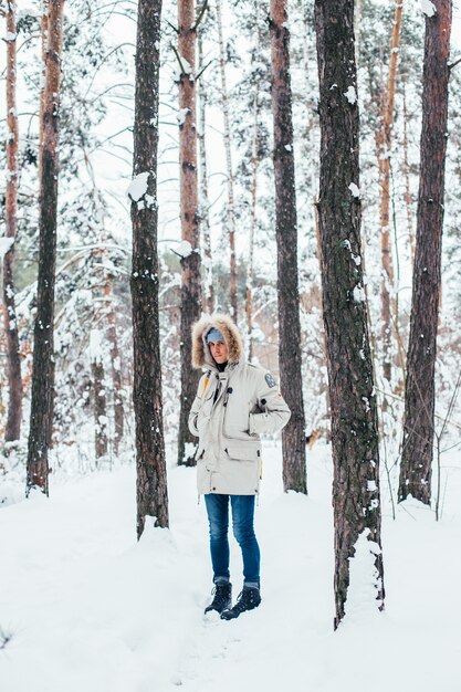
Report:
[[[353,0],[316,0],[319,77],[323,315],[332,407],[335,604],[345,615],[349,562],[369,549],[368,581],[384,607],[377,406],[360,248],[358,106]]]

